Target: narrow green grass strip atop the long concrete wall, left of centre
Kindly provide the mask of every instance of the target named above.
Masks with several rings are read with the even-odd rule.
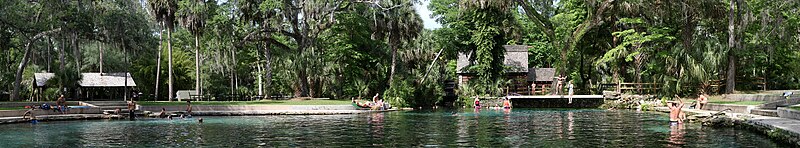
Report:
[[[186,105],[186,102],[141,101],[144,106]],[[264,101],[192,101],[192,105],[350,105],[350,100],[264,100]]]

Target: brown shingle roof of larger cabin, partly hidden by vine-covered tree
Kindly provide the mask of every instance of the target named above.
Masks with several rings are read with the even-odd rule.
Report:
[[[525,45],[503,45],[506,49],[503,63],[509,67],[506,72],[528,72],[528,46]],[[456,70],[458,73],[468,73],[465,68],[475,64],[474,53],[458,53]]]

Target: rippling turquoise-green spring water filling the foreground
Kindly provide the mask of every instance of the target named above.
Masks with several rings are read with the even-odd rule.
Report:
[[[0,125],[0,147],[786,147],[666,114],[605,110],[406,111]]]

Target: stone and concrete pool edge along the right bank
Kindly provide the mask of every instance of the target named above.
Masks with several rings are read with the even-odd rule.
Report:
[[[682,110],[688,115],[719,113],[719,111],[686,108]],[[669,113],[667,107],[655,107],[653,111]],[[725,113],[725,116],[733,120],[734,128],[754,131],[766,135],[772,140],[800,147],[800,121],[798,120],[746,113]]]

